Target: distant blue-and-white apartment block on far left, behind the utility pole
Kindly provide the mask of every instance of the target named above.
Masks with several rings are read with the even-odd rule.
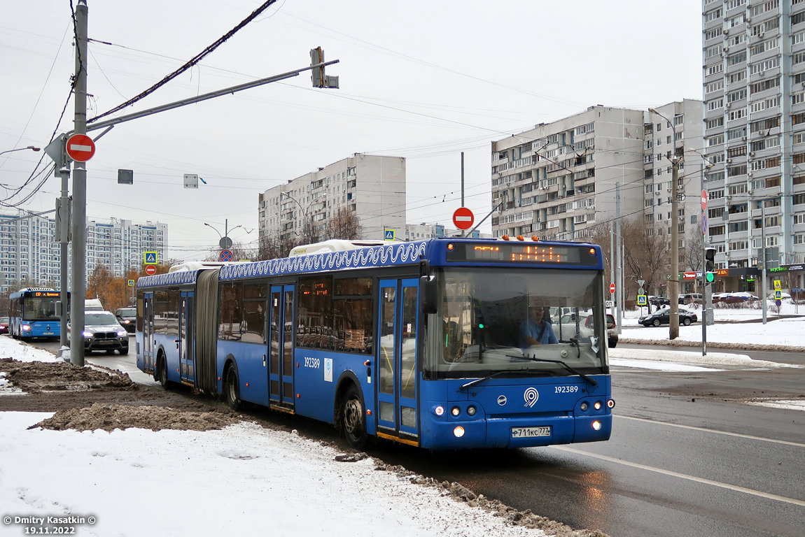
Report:
[[[0,215],[0,290],[7,291],[19,281],[60,287],[61,255],[55,231],[55,220],[28,211]],[[167,259],[167,224],[90,220],[86,247],[88,277],[98,264],[123,277],[130,269],[142,267],[143,252],[158,252],[159,260]]]

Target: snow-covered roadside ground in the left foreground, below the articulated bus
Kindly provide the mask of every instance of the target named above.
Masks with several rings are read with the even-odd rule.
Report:
[[[390,468],[371,457],[335,461],[336,449],[257,424],[206,432],[27,430],[51,416],[0,412],[0,505],[21,516],[95,516],[76,530],[81,535],[255,535],[270,527],[275,535],[328,537],[542,537],[521,521],[549,522],[456,492],[457,484],[377,471]]]

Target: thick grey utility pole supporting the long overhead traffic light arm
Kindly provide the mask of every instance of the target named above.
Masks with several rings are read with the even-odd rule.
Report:
[[[73,132],[87,133],[87,8],[86,0],[76,5],[76,121]],[[72,301],[70,326],[72,342],[70,361],[84,367],[84,295],[86,293],[87,244],[87,166],[74,162],[72,167]],[[62,266],[64,266],[62,259]]]

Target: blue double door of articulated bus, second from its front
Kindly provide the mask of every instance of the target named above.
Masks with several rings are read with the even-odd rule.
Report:
[[[271,287],[269,342],[269,400],[294,405],[294,286]]]

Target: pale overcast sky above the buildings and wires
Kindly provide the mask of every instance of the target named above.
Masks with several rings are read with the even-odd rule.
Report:
[[[88,0],[89,37],[112,43],[89,43],[89,117],[149,88],[261,4]],[[0,151],[45,146],[75,68],[70,2],[3,2],[2,14]],[[318,46],[341,60],[328,68],[340,89],[314,89],[304,72],[115,127],[87,166],[89,218],[167,223],[171,256],[198,259],[218,242],[205,222],[222,234],[229,219],[242,226],[233,240],[256,241],[258,193],[371,153],[407,158],[408,223],[450,224],[464,151],[466,205],[481,219],[491,209],[490,141],[590,105],[646,109],[702,94],[697,0],[279,0],[118,115],[303,68]],[[72,118],[70,100],[59,132]],[[22,185],[41,155],[0,156],[0,185]],[[134,186],[118,185],[119,168],[134,170]],[[184,189],[188,173],[207,184]],[[22,207],[52,209],[59,190],[51,175]]]

